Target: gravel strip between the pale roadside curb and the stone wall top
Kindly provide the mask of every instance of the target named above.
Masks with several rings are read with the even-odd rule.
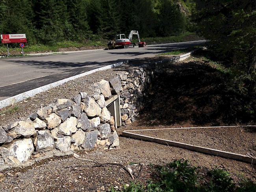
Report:
[[[90,86],[93,85],[93,83],[99,82],[101,79],[109,81],[118,74],[132,69],[132,67],[143,65],[148,62],[160,61],[166,57],[170,58],[174,56],[177,55],[165,55],[163,57],[135,59],[129,61],[128,64],[95,72],[82,78],[74,79],[64,83],[63,85],[59,85],[58,87],[47,90],[45,92],[41,92],[33,97],[27,98],[26,100],[15,103],[12,106],[4,107],[3,109],[0,109],[0,127],[8,125],[19,118],[27,117],[28,114],[36,112],[41,106],[49,105],[56,98],[70,99],[79,92],[87,92],[90,94]]]

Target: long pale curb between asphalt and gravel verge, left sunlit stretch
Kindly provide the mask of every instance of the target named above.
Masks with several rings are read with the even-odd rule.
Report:
[[[20,102],[20,101],[22,101],[26,98],[29,98],[29,97],[32,97],[32,96],[38,94],[38,93],[41,93],[41,92],[44,92],[46,90],[57,87],[59,85],[62,85],[63,83],[66,83],[70,80],[81,78],[83,76],[87,76],[87,75],[95,73],[97,71],[102,71],[102,70],[110,69],[110,68],[113,68],[113,67],[116,67],[116,66],[120,66],[124,63],[128,63],[128,60],[127,61],[122,61],[122,62],[119,62],[119,63],[114,63],[112,65],[107,65],[107,66],[103,66],[103,67],[100,67],[100,68],[96,68],[96,69],[93,69],[91,71],[87,71],[87,72],[84,72],[82,74],[78,74],[76,76],[72,76],[72,77],[69,77],[69,78],[66,78],[66,79],[62,79],[60,81],[56,81],[54,83],[50,83],[48,85],[44,85],[42,87],[38,87],[36,89],[32,89],[32,90],[20,93],[18,95],[15,95],[15,96],[12,96],[10,98],[7,98],[5,100],[0,101],[0,109],[2,109],[4,107],[7,107],[9,105],[13,105],[14,103]]]

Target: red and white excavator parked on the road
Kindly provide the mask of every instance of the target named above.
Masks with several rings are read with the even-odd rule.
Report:
[[[132,36],[137,35],[139,39],[139,32],[138,31],[131,31],[128,39],[126,39],[124,34],[116,35],[115,41],[108,42],[108,49],[117,49],[117,48],[134,48],[135,43],[132,43]],[[145,47],[146,42],[141,41],[139,39],[138,43],[139,47]]]

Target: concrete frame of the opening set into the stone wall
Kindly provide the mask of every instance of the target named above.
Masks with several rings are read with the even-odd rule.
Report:
[[[121,120],[121,108],[120,108],[120,96],[119,94],[112,96],[106,101],[106,106],[111,116],[115,120],[115,129],[122,125]]]

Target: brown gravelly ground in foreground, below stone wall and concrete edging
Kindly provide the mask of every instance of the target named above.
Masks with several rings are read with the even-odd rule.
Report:
[[[202,168],[213,168],[215,165],[226,168],[235,180],[239,174],[254,181],[256,179],[255,168],[247,163],[123,137],[120,137],[120,144],[120,149],[97,150],[80,155],[98,162],[124,164],[133,170],[135,180],[141,182],[154,179],[154,169],[150,164],[167,164],[182,158]],[[91,162],[66,157],[48,159],[26,169],[8,170],[0,176],[0,191],[96,191],[107,190],[111,186],[120,189],[131,181],[130,175],[118,166],[93,168],[91,165]]]

